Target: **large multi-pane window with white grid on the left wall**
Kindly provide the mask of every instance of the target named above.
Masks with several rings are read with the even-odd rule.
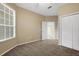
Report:
[[[0,42],[15,37],[15,11],[0,4]]]

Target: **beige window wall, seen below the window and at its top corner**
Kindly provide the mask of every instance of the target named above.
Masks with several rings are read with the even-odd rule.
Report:
[[[12,4],[10,6],[16,10],[16,6]],[[11,47],[15,45],[16,45],[16,38],[10,39],[4,42],[0,42],[0,54],[4,53],[5,51],[7,51],[8,49],[10,49]]]

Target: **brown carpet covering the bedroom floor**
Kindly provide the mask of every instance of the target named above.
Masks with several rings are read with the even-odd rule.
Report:
[[[59,46],[56,40],[41,40],[17,46],[4,56],[79,56],[79,51]]]

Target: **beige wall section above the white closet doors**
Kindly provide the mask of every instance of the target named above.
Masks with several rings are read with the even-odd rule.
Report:
[[[65,15],[73,12],[79,12],[79,3],[69,3],[59,8],[59,15]]]

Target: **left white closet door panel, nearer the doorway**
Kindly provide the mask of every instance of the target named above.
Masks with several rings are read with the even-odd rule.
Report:
[[[72,48],[72,17],[62,17],[62,46]]]

